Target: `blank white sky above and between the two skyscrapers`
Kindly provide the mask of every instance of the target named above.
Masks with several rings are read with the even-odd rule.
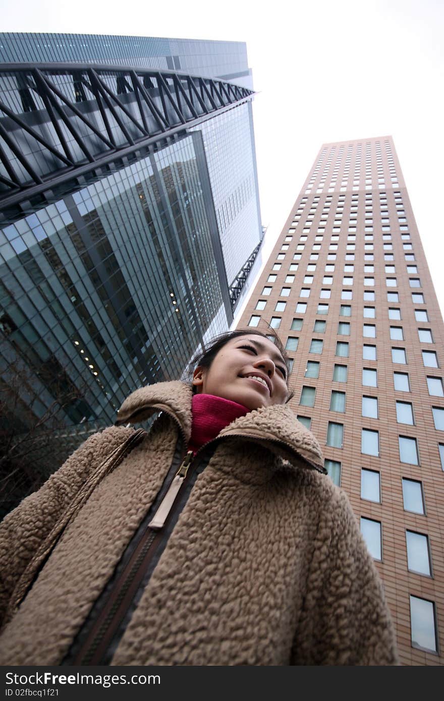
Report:
[[[321,144],[391,134],[443,311],[444,2],[155,4],[0,0],[1,27],[245,41],[267,238],[281,232]]]

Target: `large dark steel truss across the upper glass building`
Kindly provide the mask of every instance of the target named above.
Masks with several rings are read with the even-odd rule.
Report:
[[[1,64],[0,207],[17,207],[76,177],[81,183],[253,95],[166,70]]]

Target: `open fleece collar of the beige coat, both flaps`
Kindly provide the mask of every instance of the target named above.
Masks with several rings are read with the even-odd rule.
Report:
[[[180,381],[159,382],[135,390],[119,409],[116,425],[145,421],[165,411],[178,424],[188,444],[191,435],[191,387]],[[325,472],[321,448],[314,435],[297,421],[288,404],[250,411],[229,423],[218,438],[254,440],[290,463]]]

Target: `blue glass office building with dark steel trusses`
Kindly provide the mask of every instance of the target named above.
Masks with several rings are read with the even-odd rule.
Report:
[[[111,423],[179,377],[262,240],[245,44],[133,40],[0,38],[0,372],[19,385],[0,423],[18,433],[51,407]]]

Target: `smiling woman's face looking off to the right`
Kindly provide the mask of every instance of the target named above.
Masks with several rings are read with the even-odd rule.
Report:
[[[269,339],[245,334],[230,339],[210,367],[198,367],[193,384],[203,394],[243,404],[248,409],[284,404],[288,397],[287,368]]]

